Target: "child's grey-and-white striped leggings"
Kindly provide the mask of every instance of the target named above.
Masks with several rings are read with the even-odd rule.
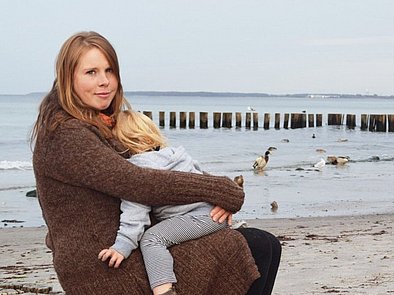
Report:
[[[182,242],[197,239],[227,226],[210,216],[181,215],[165,219],[147,229],[140,241],[151,288],[164,283],[176,283],[173,258],[168,251]]]

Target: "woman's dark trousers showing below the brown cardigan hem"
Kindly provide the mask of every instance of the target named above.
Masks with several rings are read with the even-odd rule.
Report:
[[[282,246],[269,232],[256,228],[237,229],[248,242],[261,277],[253,282],[247,295],[269,295],[278,272]]]

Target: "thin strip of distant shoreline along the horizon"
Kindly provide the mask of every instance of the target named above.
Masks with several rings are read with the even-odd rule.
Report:
[[[41,95],[46,92],[31,92],[27,94],[0,94],[0,96],[29,96]],[[394,95],[377,94],[340,94],[340,93],[296,93],[296,94],[270,94],[260,92],[211,92],[211,91],[124,91],[125,96],[190,96],[190,97],[294,97],[311,99],[316,98],[392,98]]]

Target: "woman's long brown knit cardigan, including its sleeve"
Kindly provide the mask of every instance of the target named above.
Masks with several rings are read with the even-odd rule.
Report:
[[[98,253],[113,244],[120,199],[145,205],[205,201],[230,211],[243,192],[229,178],[140,168],[96,127],[76,119],[38,136],[33,156],[47,245],[67,295],[151,294],[140,251],[120,268]],[[245,294],[259,277],[243,236],[231,229],[173,246],[178,294]]]

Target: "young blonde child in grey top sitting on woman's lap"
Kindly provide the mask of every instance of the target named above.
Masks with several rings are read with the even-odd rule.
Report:
[[[133,154],[130,162],[135,165],[202,173],[198,163],[183,147],[168,147],[159,128],[142,113],[120,113],[113,133]],[[167,248],[225,228],[225,222],[212,220],[212,208],[211,204],[203,202],[149,207],[123,200],[115,243],[102,250],[99,259],[106,261],[110,258],[109,266],[119,267],[140,242],[153,294],[176,294],[173,259]],[[148,228],[151,211],[159,222]]]

